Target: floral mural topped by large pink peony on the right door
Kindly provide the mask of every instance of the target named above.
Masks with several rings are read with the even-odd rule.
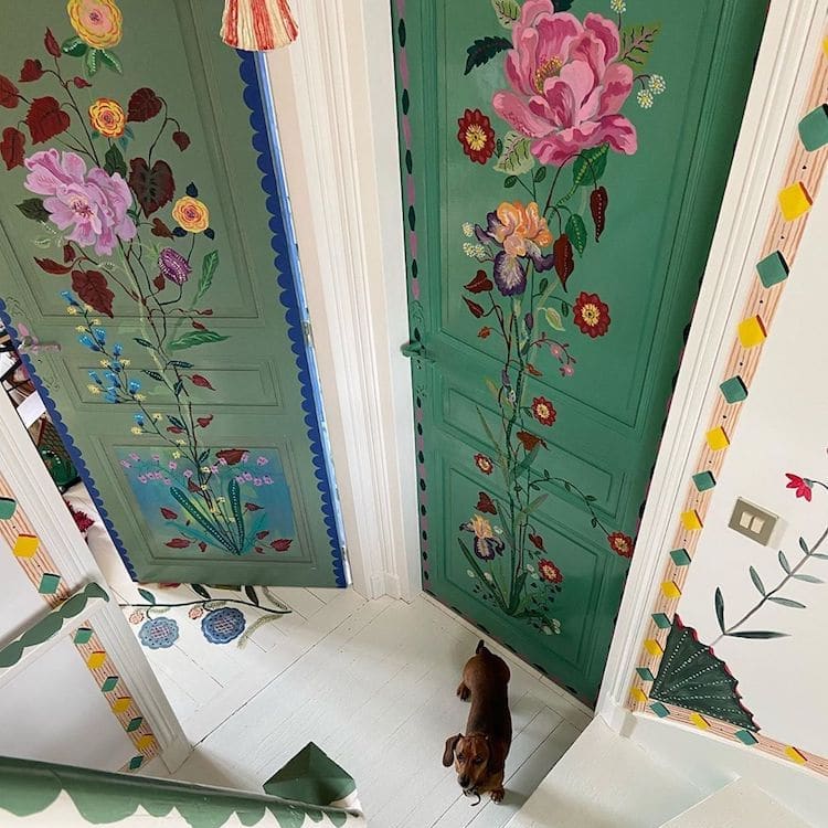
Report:
[[[552,635],[561,630],[552,609],[566,577],[533,523],[550,487],[583,502],[614,553],[631,558],[634,541],[604,523],[593,495],[555,475],[548,435],[558,411],[528,384],[551,371],[572,376],[580,348],[612,338],[611,308],[578,284],[578,262],[602,241],[607,220],[612,235],[612,200],[602,184],[607,164],[638,149],[635,124],[622,109],[634,102],[650,108],[666,81],[645,72],[659,26],[627,22],[623,0],[612,0],[612,17],[583,20],[570,11],[572,0],[491,6],[510,36],[476,40],[466,74],[506,52],[506,87],[491,98],[491,115],[461,114],[457,140],[480,176],[500,176],[506,190],[520,193],[463,225],[463,250],[476,266],[461,299],[480,320],[477,336],[497,341],[502,363],[497,380],[485,380],[499,417],[478,408],[488,448],[470,461],[481,485],[497,475],[507,493],[479,492],[459,545],[476,595]],[[498,559],[506,565],[495,565]]]

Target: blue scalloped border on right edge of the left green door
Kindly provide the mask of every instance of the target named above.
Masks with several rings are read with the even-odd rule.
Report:
[[[277,284],[282,288],[279,301],[286,308],[285,319],[288,327],[291,350],[296,354],[296,367],[299,370],[301,385],[301,407],[305,412],[305,423],[308,426],[308,439],[316,470],[317,489],[321,495],[322,514],[328,529],[331,544],[333,574],[338,586],[347,586],[348,582],[342,560],[343,538],[339,510],[337,508],[331,486],[333,468],[330,463],[327,433],[322,420],[322,400],[317,380],[314,353],[305,341],[302,322],[307,320],[307,305],[301,285],[294,234],[290,221],[290,204],[287,200],[285,171],[282,164],[278,127],[274,118],[273,100],[269,95],[267,65],[265,55],[261,53],[237,50],[241,64],[238,72],[244,83],[244,103],[251,110],[251,127],[253,127],[253,148],[258,152],[258,169],[262,171],[262,189],[267,195],[267,212],[270,214],[270,247],[276,257],[274,265],[278,270]],[[262,83],[262,81],[265,83]],[[283,267],[280,263],[286,262]],[[300,301],[301,299],[301,301]]]

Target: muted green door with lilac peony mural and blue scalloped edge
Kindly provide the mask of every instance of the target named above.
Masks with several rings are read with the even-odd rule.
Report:
[[[222,0],[0,33],[0,296],[142,581],[344,585],[263,64]]]

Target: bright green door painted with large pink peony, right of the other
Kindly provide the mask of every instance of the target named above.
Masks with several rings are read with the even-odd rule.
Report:
[[[423,583],[595,699],[764,0],[395,0]]]

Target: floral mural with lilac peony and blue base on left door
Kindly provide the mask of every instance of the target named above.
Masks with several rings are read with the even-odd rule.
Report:
[[[61,285],[77,339],[99,362],[88,394],[128,408],[131,434],[148,438],[150,448],[117,459],[162,543],[285,553],[294,520],[278,454],[212,445],[215,415],[194,410],[197,394],[215,391],[199,363],[229,337],[211,326],[222,272],[210,208],[176,171],[190,135],[152,88],[137,85],[127,100],[95,94],[100,74],[129,72],[118,6],[70,0],[67,12],[17,79],[0,75],[0,156],[28,173],[17,206],[38,225],[34,262]],[[126,316],[138,317],[140,336],[110,341],[105,318]],[[151,368],[137,370],[136,352]]]

